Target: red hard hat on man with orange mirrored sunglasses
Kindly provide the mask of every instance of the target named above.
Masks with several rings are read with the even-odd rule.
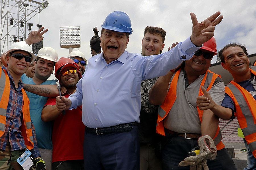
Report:
[[[58,80],[60,79],[61,71],[67,67],[74,67],[75,69],[77,69],[77,74],[79,79],[82,78],[82,75],[79,71],[79,65],[75,63],[75,61],[73,61],[73,59],[71,58],[61,57],[59,61],[56,62],[55,68],[54,68],[55,70],[54,75]]]

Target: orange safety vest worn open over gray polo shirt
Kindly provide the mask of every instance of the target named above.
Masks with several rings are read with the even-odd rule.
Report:
[[[163,120],[164,120],[164,118],[166,118],[166,116],[172,109],[172,106],[176,100],[177,82],[178,82],[180,72],[181,72],[181,69],[179,69],[175,73],[174,78],[171,82],[171,86],[170,86],[171,90],[169,90],[169,92],[164,100],[164,103],[162,103],[162,105],[160,105],[160,109],[158,110],[156,132],[163,136],[165,136]],[[210,70],[207,70],[205,73],[205,76],[201,82],[201,86],[204,86],[205,89],[207,89],[207,91],[209,91],[212,88],[212,85],[217,77],[220,77],[220,75],[217,75],[217,74],[211,72]],[[203,91],[201,90],[201,88],[199,90],[199,96],[200,95],[203,95]],[[199,114],[200,121],[202,123],[203,111],[200,110],[198,107],[197,107],[197,111]],[[222,139],[222,135],[220,132],[220,127],[218,126],[217,132],[213,138],[214,144],[216,145],[218,150],[223,149],[225,147],[225,145],[222,143],[221,139]]]

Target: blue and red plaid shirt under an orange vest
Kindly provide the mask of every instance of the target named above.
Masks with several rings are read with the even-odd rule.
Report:
[[[24,138],[21,135],[20,126],[22,122],[22,106],[23,106],[23,94],[21,89],[23,84],[21,81],[18,82],[18,88],[15,90],[15,84],[13,77],[10,75],[6,67],[2,67],[8,73],[10,79],[10,96],[9,103],[6,112],[6,124],[5,133],[0,137],[0,149],[5,150],[7,142],[11,144],[11,151],[22,150],[26,148]],[[8,96],[5,96],[8,97]],[[31,121],[32,135],[34,141],[34,148],[30,150],[33,158],[39,157],[40,153],[36,143],[36,132],[35,127]]]

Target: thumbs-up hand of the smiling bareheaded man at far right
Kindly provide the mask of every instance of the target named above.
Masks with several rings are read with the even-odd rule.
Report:
[[[204,95],[197,97],[197,107],[200,110],[211,109],[214,105],[214,101],[212,101],[211,95],[209,94],[209,92],[206,91],[204,86],[201,86],[201,89]]]

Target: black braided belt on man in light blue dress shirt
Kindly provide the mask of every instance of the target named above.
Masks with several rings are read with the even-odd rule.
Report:
[[[133,129],[132,126],[134,125],[138,125],[137,122],[132,122],[132,123],[125,123],[125,124],[119,124],[116,126],[110,126],[110,127],[106,127],[106,128],[88,128],[86,126],[86,132],[88,133],[92,133],[95,135],[103,135],[106,133],[119,133],[119,132],[129,132]]]

